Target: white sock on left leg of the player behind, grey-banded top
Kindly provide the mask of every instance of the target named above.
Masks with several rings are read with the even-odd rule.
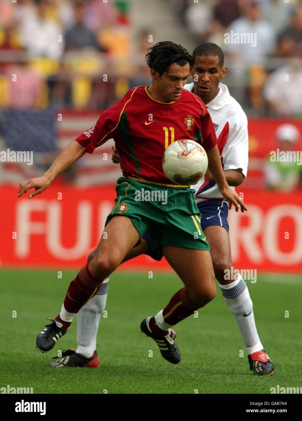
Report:
[[[107,281],[108,282],[108,281]],[[91,357],[96,349],[96,337],[101,313],[106,306],[108,293],[107,282],[103,282],[100,292],[95,294],[91,300],[80,309],[77,322],[77,353]]]

